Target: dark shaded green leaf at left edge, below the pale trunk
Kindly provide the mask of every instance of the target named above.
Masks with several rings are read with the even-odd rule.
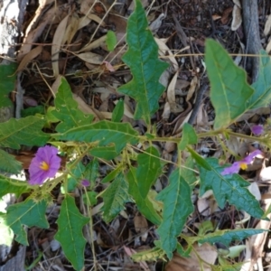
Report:
[[[14,90],[17,69],[16,63],[10,63],[8,65],[0,65],[0,107],[9,107],[12,105],[10,98],[8,97],[10,92]]]

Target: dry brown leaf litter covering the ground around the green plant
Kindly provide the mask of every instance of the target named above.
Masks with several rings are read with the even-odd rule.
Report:
[[[150,18],[153,18],[152,22],[149,23],[151,23],[151,29],[153,29],[155,41],[158,44],[160,58],[169,63],[169,68],[166,71],[168,76],[164,80],[167,91],[162,94],[159,100],[159,110],[152,118],[152,123],[160,124],[157,125],[159,135],[179,136],[183,124],[190,117],[189,114],[194,104],[198,84],[205,83],[206,74],[201,57],[204,51],[204,40],[213,36],[223,43],[230,53],[238,53],[241,47],[238,36],[233,33],[235,31],[240,37],[244,34],[239,26],[242,23],[239,17],[240,6],[231,1],[224,1],[221,5],[206,4],[204,1],[202,3],[192,1],[182,4],[168,1],[165,5],[160,5],[159,1],[153,2],[151,5],[148,1],[143,1],[143,3],[149,10]],[[99,2],[94,0],[82,1],[80,4],[70,3],[69,5],[61,2],[53,5],[52,1],[40,2],[36,10],[30,6],[33,20],[27,25],[23,43],[17,56],[17,60],[20,61],[18,71],[22,71],[19,79],[22,81],[23,89],[25,89],[25,95],[33,98],[39,104],[51,106],[51,97],[55,92],[49,91],[48,86],[51,89],[58,89],[54,85],[58,85],[59,75],[61,74],[69,81],[70,88],[73,91],[72,97],[78,102],[82,112],[93,114],[97,120],[111,119],[117,102],[120,98],[124,98],[125,117],[123,117],[123,121],[130,123],[133,127],[138,127],[139,131],[145,131],[145,123],[134,120],[135,100],[117,92],[118,87],[123,86],[132,78],[131,71],[121,61],[121,57],[126,52],[126,18],[131,14],[134,7],[131,1],[117,3],[117,1]],[[177,14],[174,10],[178,10]],[[182,30],[185,33],[182,38],[175,32],[178,27],[174,23],[173,14],[177,16],[182,25]],[[220,15],[217,16],[216,14]],[[264,42],[268,51],[270,14],[263,15],[268,15],[264,31],[266,36]],[[106,34],[109,30],[115,32],[117,36],[117,44],[113,51],[107,49]],[[187,44],[187,47],[184,47],[183,43]],[[192,50],[192,57],[186,56],[188,50]],[[25,106],[32,107],[29,104]],[[187,110],[188,108],[190,110]],[[185,112],[185,114],[180,117],[182,112]],[[238,119],[238,122],[230,127],[249,135],[249,126],[265,123],[267,114],[268,111],[266,114],[253,113],[253,122],[251,122],[252,117],[249,116],[242,120]],[[195,130],[201,132],[201,130],[210,128],[213,125],[213,120],[214,110],[210,104],[210,93],[206,92],[195,121]],[[270,127],[267,126],[267,128]],[[233,163],[234,157],[240,155],[239,158],[244,158],[248,152],[252,151],[251,148],[254,148],[255,144],[255,142],[246,142],[244,151],[243,146],[238,141],[232,142],[225,138],[218,138],[217,141],[214,141],[210,138],[204,138],[196,146],[196,150],[203,157],[216,157],[215,155],[218,155],[220,161]],[[226,153],[226,157],[220,157],[224,145],[228,145],[229,153]],[[166,157],[167,161],[171,161],[173,149],[176,146],[173,144],[169,147],[159,144],[158,147],[159,152],[163,152],[163,157]],[[27,154],[27,156],[29,155],[33,154]],[[24,164],[24,168],[28,168],[29,164],[27,163],[30,163],[30,160]],[[241,175],[248,180],[257,180],[258,176],[260,182],[270,181],[268,179],[269,173],[265,173],[266,169],[270,168],[270,166],[266,166],[269,164],[269,159],[265,162],[261,161],[261,164],[264,165],[264,169],[262,171],[260,170],[261,167],[257,169],[256,176],[255,170],[252,173],[249,171],[242,172]],[[100,181],[109,170],[110,164],[100,163],[97,192],[106,191],[107,185],[101,184]],[[162,184],[163,188],[165,185],[165,183]],[[253,192],[253,194],[258,196],[257,188],[254,188],[254,191],[256,192]],[[30,247],[28,248],[29,253],[26,262],[32,263],[38,255],[36,246],[38,244],[44,251],[40,260],[41,268],[49,270],[49,266],[56,265],[58,267],[55,268],[60,270],[72,270],[65,257],[61,255],[61,248],[53,247],[56,246],[54,244],[56,242],[54,237],[56,220],[60,214],[60,206],[63,201],[61,194],[56,193],[55,196],[58,201],[53,210],[48,212],[51,230],[39,231],[34,228],[32,229],[33,234],[29,232]],[[76,199],[80,198],[79,193],[75,194]],[[201,224],[206,220],[213,223],[222,220],[223,225],[220,227],[223,229],[229,227],[230,229],[232,225],[228,226],[228,224],[242,220],[246,216],[243,211],[233,210],[231,206],[226,206],[221,210],[211,194],[207,197],[206,195],[200,196],[199,193],[195,186],[194,197],[198,212],[192,212],[191,218],[188,219],[186,224],[189,229],[184,229],[190,234],[198,231],[193,221]],[[93,265],[94,257],[91,254],[93,251],[91,251],[90,246],[93,241],[97,241],[95,260],[98,262],[98,266],[104,266],[103,268],[108,266],[108,270],[115,270],[116,268],[118,270],[138,270],[139,266],[144,270],[163,270],[164,263],[161,259],[156,264],[151,261],[142,261],[137,264],[131,260],[131,255],[135,253],[135,250],[142,251],[146,248],[152,248],[157,237],[154,225],[147,222],[145,217],[138,213],[136,205],[127,202],[123,206],[126,208],[123,208],[121,214],[115,220],[106,223],[98,215],[99,209],[103,208],[102,204],[102,202],[98,202],[98,205],[94,207],[97,210],[92,210],[94,226],[93,229],[90,229],[91,234],[89,231],[85,232],[89,241],[84,251],[86,269],[90,269]],[[80,209],[83,208],[82,203],[79,206]],[[265,225],[264,227],[268,228],[269,226]],[[259,229],[262,229],[262,226]],[[247,252],[241,260],[249,259],[249,251],[250,254],[253,249],[255,251],[256,248],[253,248],[254,241],[252,240],[253,238],[248,238]],[[264,242],[266,242],[266,237],[257,244]],[[46,254],[49,245],[52,246],[51,253]],[[207,255],[201,257],[207,262],[214,263],[218,257],[214,251],[217,250],[213,246],[205,245],[206,247],[192,249],[196,255],[201,255],[202,250],[207,251]],[[133,248],[136,249],[133,250]],[[200,264],[194,266],[195,259],[193,257],[195,254],[191,259],[174,254],[173,260],[165,267],[165,270],[178,271],[198,268]],[[254,257],[253,260],[256,261],[257,257]],[[124,263],[121,263],[122,261]],[[35,267],[34,270],[40,269]]]

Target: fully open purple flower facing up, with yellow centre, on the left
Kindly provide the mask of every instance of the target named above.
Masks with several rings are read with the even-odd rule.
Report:
[[[38,149],[29,166],[29,184],[42,184],[47,178],[52,178],[61,167],[58,149],[45,145]]]

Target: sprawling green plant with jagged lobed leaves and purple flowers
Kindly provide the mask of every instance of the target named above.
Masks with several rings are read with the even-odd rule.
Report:
[[[76,270],[84,266],[87,241],[82,228],[92,227],[91,212],[82,215],[74,201],[73,192],[77,189],[84,192],[88,210],[95,206],[98,197],[102,198],[104,205],[100,215],[107,223],[125,209],[126,202],[135,202],[137,210],[155,225],[159,240],[154,242],[155,247],[151,250],[135,254],[135,260],[165,256],[171,259],[174,251],[187,257],[195,243],[220,242],[229,246],[236,240],[265,230],[217,229],[194,237],[182,233],[186,220],[194,210],[192,191],[195,185],[200,189],[200,196],[212,190],[221,209],[228,202],[237,210],[245,210],[251,217],[265,219],[267,216],[248,191],[249,182],[238,171],[240,168],[245,169],[257,154],[264,154],[265,146],[270,147],[268,131],[265,132],[264,126],[255,126],[251,128],[254,135],[242,135],[228,127],[248,110],[266,107],[270,101],[269,56],[265,51],[260,52],[259,76],[257,82],[249,86],[245,70],[234,64],[218,42],[207,40],[204,61],[210,79],[210,100],[216,113],[214,125],[210,131],[197,134],[192,126],[185,124],[180,138],[159,137],[155,134],[155,123],[151,122],[151,117],[159,109],[158,100],[165,91],[159,78],[168,64],[158,58],[158,46],[153,34],[147,29],[145,10],[139,0],[135,0],[135,11],[128,19],[126,42],[128,49],[123,61],[130,68],[133,79],[117,91],[135,99],[134,117],[144,120],[145,135],[140,135],[129,123],[122,122],[122,100],[115,107],[111,120],[97,121],[93,116],[83,114],[64,78],[54,98],[54,107],[47,110],[44,116],[12,118],[0,124],[2,147],[14,150],[20,149],[21,145],[38,147],[29,167],[29,180],[20,182],[6,174],[0,176],[2,197],[7,193],[14,193],[17,197],[27,195],[23,202],[2,210],[6,245],[11,244],[13,237],[19,243],[28,245],[24,226],[49,227],[46,210],[54,204],[51,192],[60,184],[63,201],[56,221],[58,230],[55,239],[61,243],[65,256]],[[56,125],[55,131],[44,133],[43,127],[52,123]],[[194,151],[193,145],[207,136],[220,136],[224,141],[230,137],[254,139],[261,149],[242,159],[237,156],[233,164],[221,164],[217,158],[204,159]],[[157,141],[176,143],[178,161],[168,186],[154,198],[152,186],[163,174],[165,164],[154,147]],[[182,161],[182,152],[190,154],[186,161]],[[2,171],[20,173],[22,165],[11,154],[0,150],[0,155]],[[62,165],[61,157],[66,162]],[[84,157],[89,159],[89,163],[83,163]],[[100,182],[107,183],[107,188],[98,194],[95,192],[99,180],[98,168],[104,163],[109,164],[112,170]],[[185,240],[186,248],[182,248],[181,240]],[[91,246],[95,257],[93,243]]]

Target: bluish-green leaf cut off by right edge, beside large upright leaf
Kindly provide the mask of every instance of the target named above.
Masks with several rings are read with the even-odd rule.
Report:
[[[255,92],[248,99],[249,109],[266,107],[271,101],[271,60],[266,51],[261,50],[260,54],[257,81],[251,86]]]

